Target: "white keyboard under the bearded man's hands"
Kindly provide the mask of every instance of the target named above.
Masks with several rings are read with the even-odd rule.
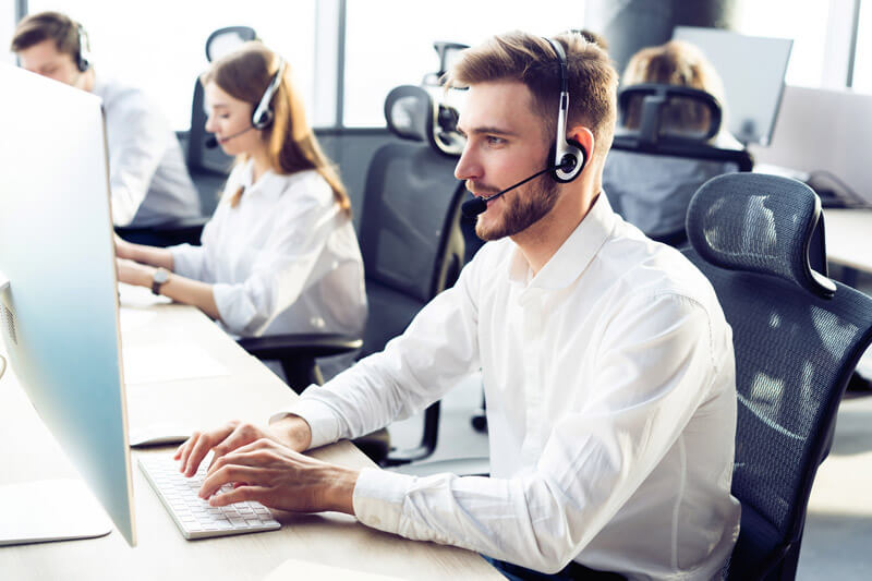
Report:
[[[172,520],[185,538],[205,538],[229,534],[275,531],[281,524],[272,518],[269,509],[261,503],[244,501],[226,507],[210,507],[197,496],[209,465],[208,456],[192,477],[179,472],[179,462],[171,455],[145,455],[140,457],[140,469],[167,507]],[[226,484],[221,491],[231,489]]]

